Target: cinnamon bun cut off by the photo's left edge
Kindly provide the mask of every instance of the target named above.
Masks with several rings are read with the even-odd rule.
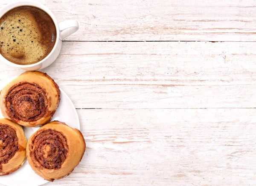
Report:
[[[0,176],[15,172],[26,160],[26,137],[17,123],[0,119]]]

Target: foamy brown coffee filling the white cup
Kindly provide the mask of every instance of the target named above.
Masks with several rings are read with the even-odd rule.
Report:
[[[43,60],[55,41],[55,24],[41,9],[18,7],[0,19],[0,54],[12,63],[29,65]]]

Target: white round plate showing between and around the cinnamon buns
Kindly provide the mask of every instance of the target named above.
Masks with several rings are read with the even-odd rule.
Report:
[[[0,118],[1,117],[3,117],[3,115],[0,112]],[[52,121],[54,120],[62,121],[72,128],[80,130],[76,108],[63,90],[61,90],[60,105],[52,118]],[[38,129],[39,127],[24,127],[26,138],[29,139],[29,137]],[[44,178],[35,174],[27,160],[23,163],[20,169],[14,173],[7,176],[0,176],[0,183],[6,186],[39,186],[47,182],[47,180],[44,180]]]

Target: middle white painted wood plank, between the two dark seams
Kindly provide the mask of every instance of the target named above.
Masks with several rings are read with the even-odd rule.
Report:
[[[254,108],[256,43],[64,42],[44,69],[76,108]],[[1,78],[22,73],[1,63]]]

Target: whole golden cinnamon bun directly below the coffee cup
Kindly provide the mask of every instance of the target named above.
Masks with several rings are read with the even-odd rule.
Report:
[[[46,73],[38,71],[20,74],[0,94],[3,116],[29,127],[48,123],[59,102],[58,85]]]

